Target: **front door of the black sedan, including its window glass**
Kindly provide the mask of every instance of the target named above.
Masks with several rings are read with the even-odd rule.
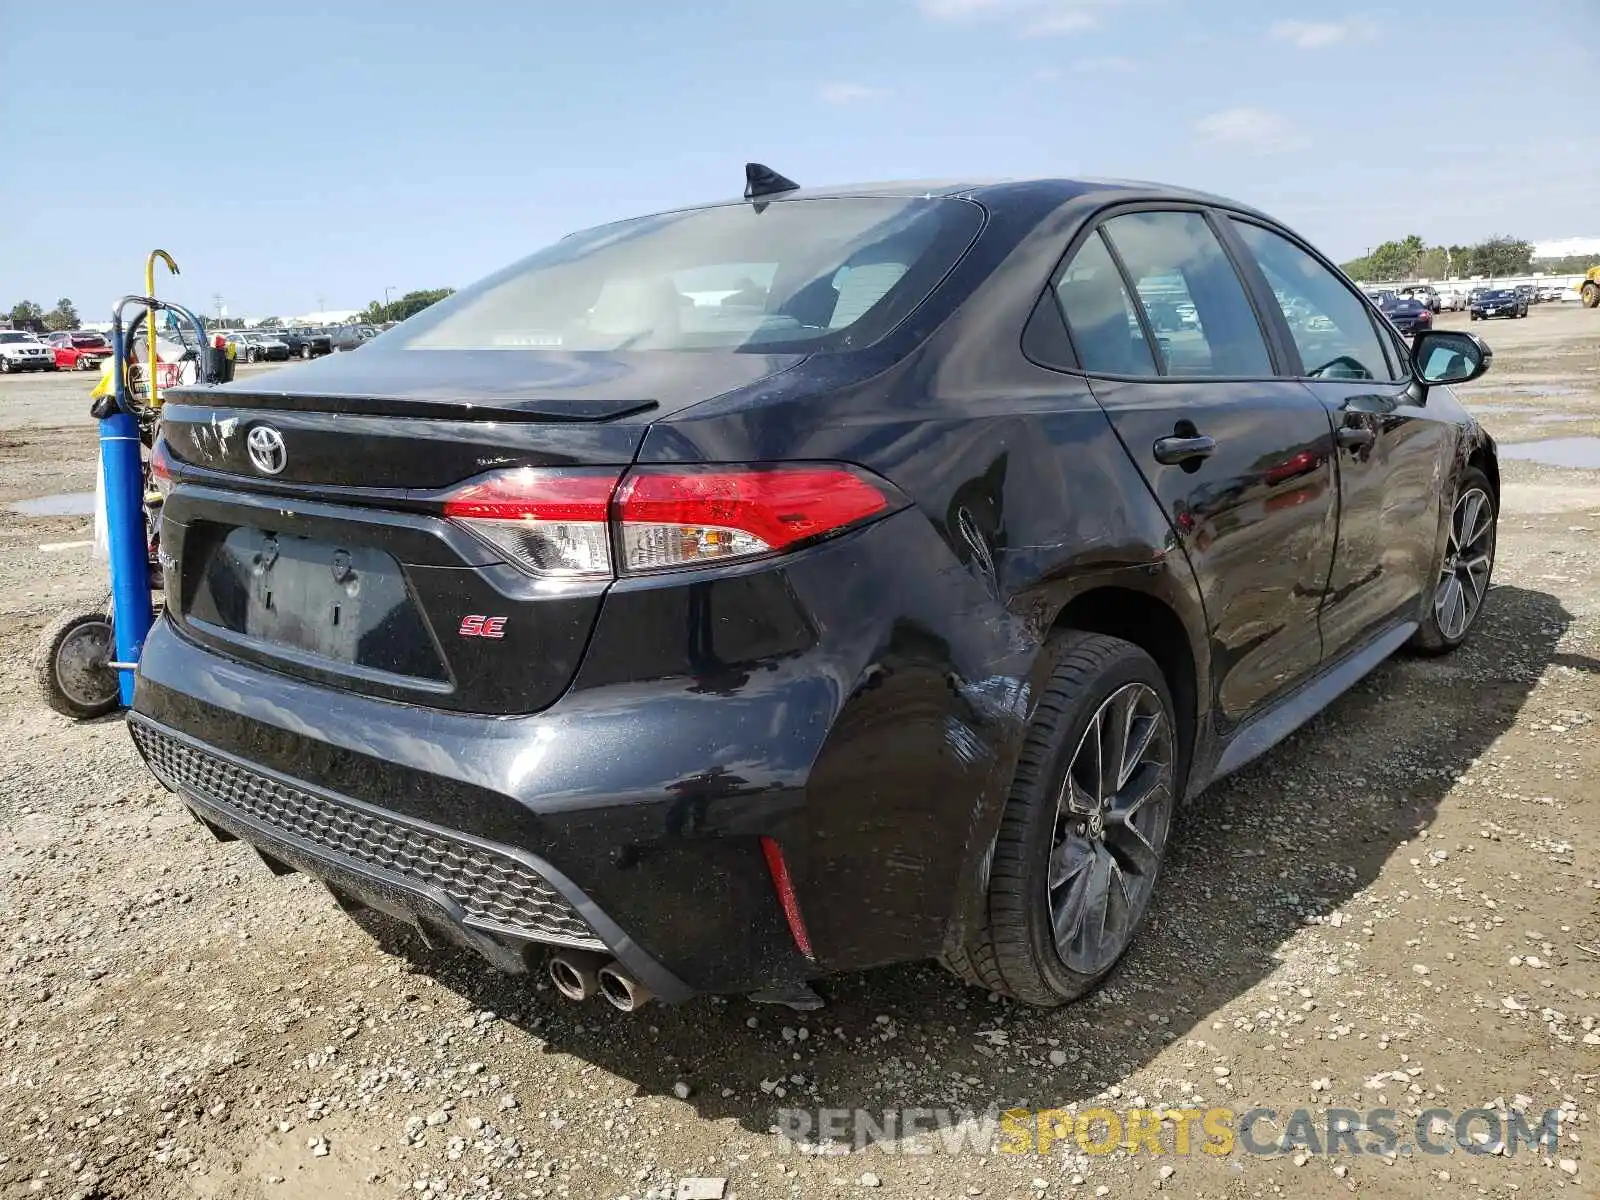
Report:
[[[1427,408],[1403,339],[1326,262],[1282,230],[1245,219],[1232,230],[1283,315],[1291,373],[1336,429],[1339,544],[1322,606],[1336,656],[1411,614],[1432,586],[1456,426]]]

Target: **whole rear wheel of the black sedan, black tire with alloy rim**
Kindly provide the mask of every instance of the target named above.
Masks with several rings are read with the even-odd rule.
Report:
[[[1131,642],[1066,634],[995,838],[987,920],[946,965],[1053,1008],[1104,979],[1133,942],[1178,795],[1173,701]]]

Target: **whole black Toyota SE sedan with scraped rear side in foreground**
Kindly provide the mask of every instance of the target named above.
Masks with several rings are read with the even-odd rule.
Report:
[[[173,390],[133,736],[218,837],[571,997],[936,957],[1056,1005],[1176,805],[1469,635],[1488,363],[1216,197],[752,166]]]

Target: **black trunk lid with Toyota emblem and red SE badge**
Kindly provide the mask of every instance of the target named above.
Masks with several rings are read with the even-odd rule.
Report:
[[[173,622],[325,686],[466,712],[542,709],[576,674],[610,581],[526,574],[446,518],[445,496],[518,467],[621,475],[661,413],[800,360],[494,357],[499,370],[458,352],[374,354],[362,370],[317,371],[320,360],[173,389],[162,419]],[[253,434],[278,458],[253,456]]]

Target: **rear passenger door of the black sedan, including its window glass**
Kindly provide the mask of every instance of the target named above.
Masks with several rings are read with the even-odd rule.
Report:
[[[1277,378],[1200,210],[1104,219],[1054,286],[1090,386],[1194,566],[1216,709],[1237,723],[1322,659],[1336,534],[1326,410]]]

